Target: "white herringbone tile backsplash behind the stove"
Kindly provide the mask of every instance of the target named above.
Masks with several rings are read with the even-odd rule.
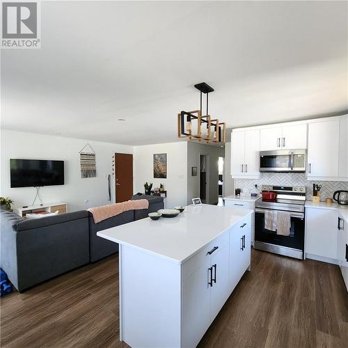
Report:
[[[258,189],[255,189],[255,184]],[[312,199],[313,184],[322,185],[321,199],[332,198],[337,190],[348,191],[348,182],[340,181],[309,181],[305,173],[261,173],[260,179],[235,179],[235,189],[242,192],[261,191],[261,185],[306,186],[306,198]]]

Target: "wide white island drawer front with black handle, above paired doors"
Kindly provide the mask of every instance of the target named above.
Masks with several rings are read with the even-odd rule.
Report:
[[[209,267],[210,259],[221,252],[230,242],[230,231],[227,230],[209,242],[202,250],[198,251],[189,260],[182,264],[182,281],[186,280],[200,267]]]

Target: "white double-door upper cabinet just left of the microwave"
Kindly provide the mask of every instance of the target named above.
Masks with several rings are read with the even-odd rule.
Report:
[[[231,175],[257,179],[260,176],[260,130],[232,132]]]

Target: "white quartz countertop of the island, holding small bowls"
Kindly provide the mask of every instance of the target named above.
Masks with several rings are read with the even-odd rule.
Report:
[[[102,230],[97,235],[181,264],[252,213],[251,209],[189,205],[173,218],[161,217],[153,221],[148,217]]]

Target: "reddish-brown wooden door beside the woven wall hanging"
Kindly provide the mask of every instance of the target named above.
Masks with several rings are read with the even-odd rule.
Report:
[[[133,155],[115,154],[116,203],[125,202],[133,196]]]

